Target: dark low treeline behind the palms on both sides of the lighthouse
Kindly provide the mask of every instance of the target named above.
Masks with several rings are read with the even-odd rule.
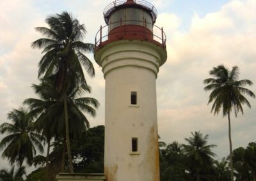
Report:
[[[191,133],[184,143],[166,144],[159,141],[159,159],[161,181],[230,181],[229,157],[217,159],[209,145],[209,136],[199,131]],[[61,171],[61,156],[63,145],[55,140],[51,143],[52,151],[49,154],[49,175],[51,180]],[[76,173],[103,173],[104,172],[104,126],[88,129],[79,139],[71,138],[72,163]],[[236,181],[254,181],[256,179],[256,142],[248,146],[233,150],[234,175]],[[47,180],[45,156],[37,155],[33,158],[36,170],[27,175],[25,180]],[[23,169],[23,170],[22,170]],[[0,178],[15,178],[24,175],[21,170],[1,170]],[[65,154],[65,170],[68,170],[68,158]],[[23,172],[22,172],[23,171]]]

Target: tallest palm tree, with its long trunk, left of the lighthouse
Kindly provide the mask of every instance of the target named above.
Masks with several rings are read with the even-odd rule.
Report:
[[[64,11],[61,14],[46,18],[47,27],[36,27],[36,31],[46,38],[40,38],[32,43],[33,48],[43,48],[43,57],[39,62],[38,77],[54,75],[54,87],[61,93],[65,110],[65,129],[70,172],[74,172],[70,151],[68,127],[67,90],[71,82],[86,83],[81,64],[87,73],[94,76],[92,62],[84,52],[93,52],[94,45],[83,43],[81,40],[86,34],[83,24]]]

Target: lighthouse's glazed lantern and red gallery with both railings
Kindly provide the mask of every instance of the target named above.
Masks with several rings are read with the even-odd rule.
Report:
[[[100,26],[95,50],[119,40],[150,41],[166,49],[163,28],[155,24],[156,8],[143,0],[116,0],[104,9],[106,26]]]

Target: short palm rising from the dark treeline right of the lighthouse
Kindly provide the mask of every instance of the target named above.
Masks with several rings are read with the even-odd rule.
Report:
[[[200,131],[191,133],[192,137],[185,138],[188,145],[182,145],[183,150],[188,158],[189,173],[196,177],[197,181],[200,181],[203,177],[203,173],[208,171],[213,163],[212,157],[216,156],[212,152],[211,148],[216,145],[207,145],[209,135],[203,136]]]

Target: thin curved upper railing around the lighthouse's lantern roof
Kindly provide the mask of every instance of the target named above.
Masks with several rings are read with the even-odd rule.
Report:
[[[156,22],[156,18],[157,18],[157,10],[156,10],[156,7],[151,4],[151,3],[148,3],[147,1],[144,1],[144,0],[133,0],[134,3],[142,6],[143,8],[151,11],[152,13],[152,16],[153,16],[153,22]],[[108,22],[108,16],[109,14],[116,9],[117,6],[120,6],[124,3],[126,3],[127,1],[126,0],[115,0],[113,1],[113,3],[110,3],[108,4],[108,6],[106,6],[106,8],[104,9],[103,11],[103,15],[104,15],[104,18],[105,18],[105,21]]]

